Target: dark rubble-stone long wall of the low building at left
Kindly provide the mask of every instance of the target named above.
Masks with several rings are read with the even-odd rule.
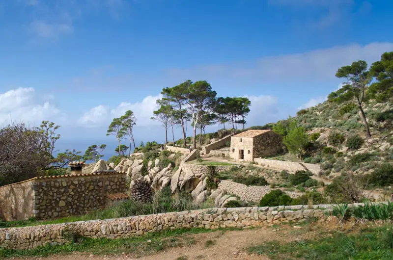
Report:
[[[37,218],[78,215],[104,208],[106,193],[128,190],[125,173],[56,177],[38,178],[33,182]]]

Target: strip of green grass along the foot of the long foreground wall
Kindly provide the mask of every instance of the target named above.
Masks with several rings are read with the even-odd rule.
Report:
[[[221,231],[239,230],[237,228],[217,229]],[[154,254],[171,247],[184,247],[193,244],[192,234],[216,232],[203,228],[177,229],[157,233],[147,233],[144,236],[107,239],[107,238],[82,238],[79,243],[66,245],[46,245],[29,250],[0,249],[0,258],[11,257],[48,257],[51,255],[68,254],[71,252],[83,252],[94,255],[121,255],[133,254],[137,257]],[[150,241],[149,241],[150,240]]]

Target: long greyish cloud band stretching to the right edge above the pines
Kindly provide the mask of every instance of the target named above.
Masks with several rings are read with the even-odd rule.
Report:
[[[172,78],[207,78],[227,85],[261,83],[320,83],[337,81],[337,69],[363,59],[369,64],[393,50],[393,43],[370,43],[319,49],[303,53],[262,57],[231,64],[207,64],[193,68],[172,68]],[[215,68],[212,70],[211,68]],[[225,82],[224,82],[225,81]]]

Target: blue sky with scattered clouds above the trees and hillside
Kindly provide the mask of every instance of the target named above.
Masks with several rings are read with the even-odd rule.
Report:
[[[52,120],[59,149],[106,143],[112,152],[107,127],[131,109],[138,143],[164,141],[149,119],[155,101],[187,79],[248,96],[249,125],[277,121],[336,90],[338,67],[393,51],[392,8],[386,0],[0,0],[0,121]]]

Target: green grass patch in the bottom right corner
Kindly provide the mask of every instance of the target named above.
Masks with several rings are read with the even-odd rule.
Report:
[[[268,241],[249,248],[250,253],[270,259],[307,260],[388,260],[393,259],[393,225],[368,228],[357,234],[334,233],[332,236],[290,243]]]

